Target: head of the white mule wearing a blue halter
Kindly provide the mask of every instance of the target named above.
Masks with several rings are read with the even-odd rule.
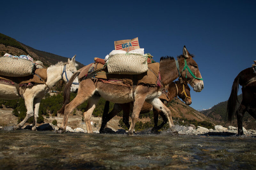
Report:
[[[65,82],[68,82],[68,80],[71,78],[73,73],[75,73],[77,71],[76,67],[78,66],[78,64],[76,64],[75,57],[76,57],[76,55],[74,55],[71,60],[68,58],[68,63],[66,64],[67,77],[66,77],[65,73],[63,73],[63,79],[64,79]],[[75,78],[73,83],[78,84],[78,78],[77,77]],[[77,90],[78,90],[78,85],[72,84],[70,91],[71,92],[77,92]]]

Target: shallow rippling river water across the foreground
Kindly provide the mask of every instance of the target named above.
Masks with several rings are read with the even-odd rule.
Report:
[[[0,169],[255,169],[256,138],[0,130]]]

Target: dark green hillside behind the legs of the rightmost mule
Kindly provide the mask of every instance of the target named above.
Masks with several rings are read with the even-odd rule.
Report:
[[[236,107],[238,108],[242,101],[242,94],[238,95],[237,98],[239,103],[237,102]],[[230,123],[227,121],[227,117],[226,117],[227,105],[228,105],[228,101],[223,101],[217,105],[214,105],[211,109],[201,111],[201,113],[206,115],[210,119],[212,119],[217,124],[223,125],[225,127],[230,125],[237,127],[236,116],[234,117],[235,120],[233,122]],[[245,112],[244,114],[243,126],[248,129],[256,128],[256,120],[247,112]]]

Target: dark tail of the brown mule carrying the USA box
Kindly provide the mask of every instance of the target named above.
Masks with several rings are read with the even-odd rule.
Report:
[[[64,102],[63,102],[63,106],[61,107],[61,109],[58,111],[60,114],[64,114],[64,109],[65,106],[69,103],[70,101],[70,87],[73,83],[73,81],[75,80],[75,78],[80,74],[81,71],[76,71],[72,77],[69,79],[67,85],[65,86],[64,92],[63,92],[63,97],[64,97]]]

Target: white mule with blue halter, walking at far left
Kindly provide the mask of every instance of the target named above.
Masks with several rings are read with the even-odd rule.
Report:
[[[68,62],[59,62],[47,68],[47,80],[45,84],[35,83],[33,86],[22,86],[20,92],[17,91],[15,86],[0,84],[0,99],[13,100],[22,97],[25,100],[25,106],[27,108],[27,115],[23,121],[14,126],[14,129],[20,129],[28,121],[28,119],[34,116],[32,130],[36,130],[36,122],[38,118],[38,110],[40,101],[47,94],[50,88],[52,88],[61,78],[65,82],[68,82],[68,78],[71,78],[74,72],[76,72],[75,63],[76,55]],[[73,82],[73,81],[72,81]],[[78,89],[78,78],[74,79],[70,89],[72,92],[76,92]]]

